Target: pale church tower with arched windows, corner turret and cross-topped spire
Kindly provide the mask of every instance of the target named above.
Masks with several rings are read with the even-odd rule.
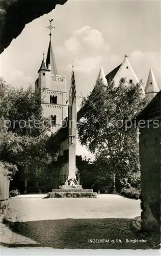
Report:
[[[55,56],[51,45],[51,22],[47,27],[49,33],[49,46],[47,51],[46,61],[43,60],[38,70],[38,78],[35,82],[35,93],[41,92],[43,117],[50,117],[52,129],[55,133],[61,126],[62,121],[66,118],[66,94],[67,94],[67,77],[58,74]]]

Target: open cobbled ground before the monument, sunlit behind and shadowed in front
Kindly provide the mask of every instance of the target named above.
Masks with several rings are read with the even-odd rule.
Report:
[[[131,219],[141,213],[140,200],[118,195],[98,195],[97,199],[24,196],[11,199],[9,206],[1,224],[1,246],[151,248],[148,240],[138,242],[142,236],[130,228]],[[90,243],[93,239],[102,242]]]

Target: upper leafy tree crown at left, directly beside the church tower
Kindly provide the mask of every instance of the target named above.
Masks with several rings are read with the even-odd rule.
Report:
[[[4,80],[3,80],[4,82]],[[4,87],[0,81],[0,88]],[[49,131],[51,127],[50,118],[43,118],[40,93],[34,93],[32,86],[26,91],[14,89],[10,86],[4,94],[0,105],[0,118],[5,120],[8,131],[19,136],[39,136]]]

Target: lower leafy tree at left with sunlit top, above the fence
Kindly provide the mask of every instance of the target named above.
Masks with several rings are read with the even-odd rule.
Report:
[[[12,132],[0,133],[0,159],[18,168],[21,179],[39,179],[47,172],[52,157],[47,153],[50,136],[18,136]],[[52,148],[52,153],[58,151]],[[9,165],[5,164],[9,167]],[[10,168],[11,169],[11,168]],[[15,172],[13,173],[13,175]]]

